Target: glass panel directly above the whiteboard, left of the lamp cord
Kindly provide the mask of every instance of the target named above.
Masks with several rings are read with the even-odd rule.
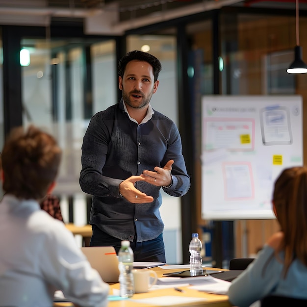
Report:
[[[286,72],[294,59],[294,23],[288,16],[222,13],[222,94],[295,94],[295,75]]]

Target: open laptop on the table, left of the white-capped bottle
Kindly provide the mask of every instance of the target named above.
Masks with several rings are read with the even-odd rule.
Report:
[[[113,246],[87,246],[81,247],[81,251],[103,281],[118,282],[118,258]]]

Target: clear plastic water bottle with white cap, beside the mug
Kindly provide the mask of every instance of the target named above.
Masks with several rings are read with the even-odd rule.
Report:
[[[119,283],[120,296],[131,297],[134,294],[133,283],[133,251],[130,247],[129,241],[122,241],[121,248],[118,252],[118,269],[119,269]]]

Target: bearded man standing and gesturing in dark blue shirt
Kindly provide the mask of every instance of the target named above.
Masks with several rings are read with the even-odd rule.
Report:
[[[153,110],[160,61],[130,51],[119,62],[123,98],[95,114],[82,145],[81,189],[93,195],[91,246],[129,240],[135,261],[165,262],[160,188],[182,196],[190,187],[178,128]]]

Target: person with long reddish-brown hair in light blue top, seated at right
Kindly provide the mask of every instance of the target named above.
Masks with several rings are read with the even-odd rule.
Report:
[[[273,210],[280,231],[229,288],[229,300],[247,307],[268,295],[307,299],[307,167],[283,170],[276,179]]]

